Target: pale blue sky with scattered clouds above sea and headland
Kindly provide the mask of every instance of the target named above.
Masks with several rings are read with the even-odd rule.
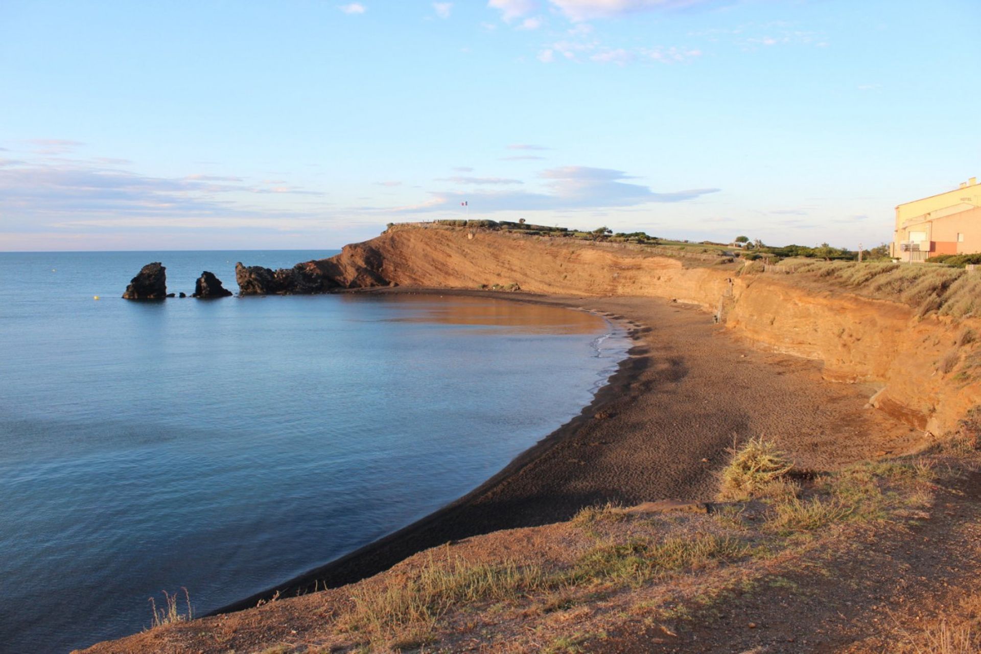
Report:
[[[978,3],[0,0],[0,250],[877,245],[981,176]]]

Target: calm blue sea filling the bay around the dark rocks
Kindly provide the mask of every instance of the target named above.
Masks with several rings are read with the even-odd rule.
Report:
[[[120,299],[151,261],[189,294],[331,254],[0,253],[0,650],[142,629],[181,586],[203,615],[401,528],[578,414],[627,347],[490,298]]]

